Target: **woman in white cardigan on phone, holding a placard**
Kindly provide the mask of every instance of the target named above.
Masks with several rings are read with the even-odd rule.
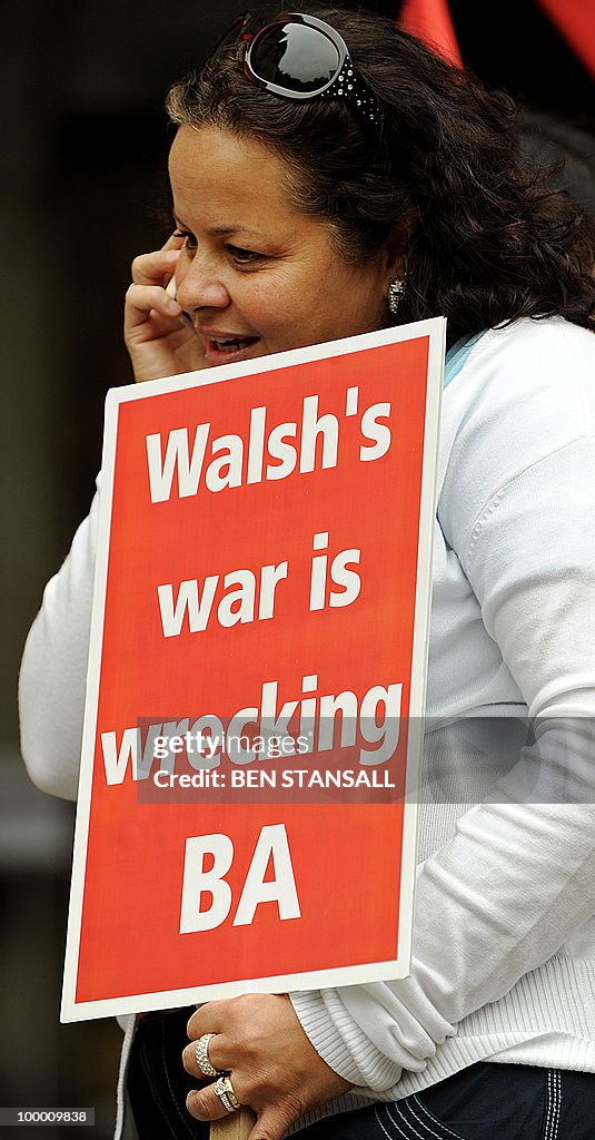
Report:
[[[136,1127],[203,1135],[241,1102],[259,1114],[252,1140],[586,1140],[593,228],[520,164],[508,100],[390,22],[308,6],[262,23],[170,93],[177,229],[133,262],[127,345],[146,381],[447,316],[433,801],[411,976],[148,1016],[128,1069]],[[48,587],[21,682],[31,775],[71,797],[96,513]],[[537,740],[520,754],[527,716]],[[201,1083],[221,1070],[227,1092]]]

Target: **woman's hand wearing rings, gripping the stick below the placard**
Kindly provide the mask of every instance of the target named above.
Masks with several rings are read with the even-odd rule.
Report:
[[[305,1036],[286,994],[246,994],[212,1001],[193,1013],[182,1053],[187,1073],[204,1080],[196,1064],[195,1042],[214,1033],[209,1060],[227,1070],[237,1099],[250,1105],[258,1121],[250,1140],[279,1140],[308,1108],[351,1089],[328,1067]],[[189,1092],[186,1107],[198,1121],[227,1116],[212,1085]]]

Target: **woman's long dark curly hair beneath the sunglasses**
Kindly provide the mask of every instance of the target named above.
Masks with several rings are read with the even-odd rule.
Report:
[[[374,13],[292,11],[341,33],[382,100],[380,127],[341,99],[268,92],[244,74],[235,47],[171,89],[171,121],[272,147],[295,207],[329,222],[350,264],[392,242],[407,266],[398,324],[446,316],[450,344],[520,317],[595,327],[595,226],[521,156],[513,100]]]

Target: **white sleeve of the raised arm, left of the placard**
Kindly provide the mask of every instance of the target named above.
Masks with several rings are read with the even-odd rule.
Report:
[[[38,788],[65,799],[76,799],[79,784],[98,511],[99,490],[46,586],[18,682],[25,766]]]

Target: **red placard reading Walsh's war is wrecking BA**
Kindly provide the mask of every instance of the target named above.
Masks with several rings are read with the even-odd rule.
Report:
[[[109,393],[63,1019],[407,972],[443,335]]]

